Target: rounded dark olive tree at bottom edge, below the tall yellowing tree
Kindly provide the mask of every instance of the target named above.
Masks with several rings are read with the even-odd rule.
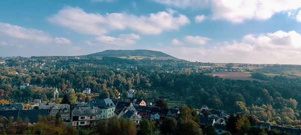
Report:
[[[196,123],[193,120],[189,121],[183,121],[178,125],[177,127],[177,134],[182,135],[182,134],[196,134],[196,135],[201,135],[202,132],[199,128],[199,124]]]

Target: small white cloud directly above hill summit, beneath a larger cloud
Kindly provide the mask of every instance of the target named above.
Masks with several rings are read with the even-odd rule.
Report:
[[[87,41],[89,45],[100,44],[100,45],[117,45],[117,46],[126,46],[130,44],[135,44],[135,39],[140,39],[140,36],[137,34],[121,34],[119,37],[112,37],[106,35],[99,35],[94,38],[92,41]]]

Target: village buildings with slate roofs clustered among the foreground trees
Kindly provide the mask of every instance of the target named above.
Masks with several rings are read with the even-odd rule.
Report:
[[[22,83],[18,88],[25,88],[27,86],[30,85]],[[85,88],[82,92],[89,95],[91,94],[91,89]],[[34,104],[2,103],[0,104],[0,116],[6,120],[13,119],[14,123],[17,122],[18,118],[28,118],[28,125],[36,124],[39,116],[59,116],[64,124],[73,125],[78,129],[93,129],[100,120],[112,117],[129,118],[135,123],[137,129],[139,129],[142,119],[154,120],[161,123],[166,117],[179,118],[179,108],[158,107],[158,105],[146,102],[142,98],[135,98],[135,92],[134,89],[128,90],[127,101],[119,100],[117,97],[114,99],[95,98],[83,102],[61,104],[55,101],[46,102],[41,98],[35,99]],[[53,100],[57,100],[58,97],[59,91],[55,88]],[[168,98],[160,100],[164,102]],[[230,115],[223,110],[209,108],[207,105],[194,110],[196,110],[199,117],[199,128],[201,130],[212,125],[218,135],[227,131],[227,122]],[[5,124],[0,124],[0,126],[5,126]],[[256,122],[255,126],[268,130],[276,129],[282,132],[301,132],[298,128],[281,127],[260,121]]]

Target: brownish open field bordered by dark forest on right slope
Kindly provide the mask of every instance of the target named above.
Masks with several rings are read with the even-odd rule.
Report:
[[[241,80],[258,80],[251,77],[251,72],[212,72],[213,76],[220,76],[222,78],[229,78],[229,79],[241,79]]]

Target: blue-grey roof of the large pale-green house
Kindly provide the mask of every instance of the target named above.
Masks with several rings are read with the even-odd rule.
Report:
[[[104,98],[104,99],[93,99],[89,101],[89,107],[99,107],[101,109],[108,109],[111,107],[115,107],[115,104],[113,101],[109,98]]]

